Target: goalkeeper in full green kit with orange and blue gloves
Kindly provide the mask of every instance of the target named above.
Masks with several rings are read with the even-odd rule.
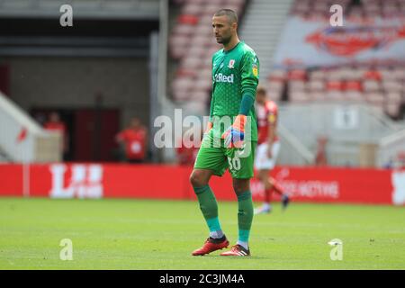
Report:
[[[253,104],[259,61],[255,51],[238,39],[235,12],[229,9],[218,11],[212,18],[212,28],[223,49],[212,56],[210,121],[190,175],[210,237],[202,247],[193,251],[193,256],[229,246],[220,227],[218,204],[209,186],[211,175],[223,175],[228,168],[238,197],[238,242],[220,255],[246,257],[250,255],[248,238],[254,212],[249,183],[253,177],[257,145]]]

